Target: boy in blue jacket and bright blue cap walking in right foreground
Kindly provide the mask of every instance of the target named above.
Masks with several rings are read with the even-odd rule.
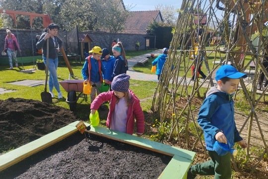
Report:
[[[232,96],[237,90],[240,78],[247,78],[247,75],[238,72],[231,65],[223,65],[217,70],[217,87],[207,91],[198,115],[198,123],[204,131],[206,150],[211,160],[192,166],[187,179],[195,179],[197,174],[214,175],[215,179],[231,179],[231,153],[219,156],[213,150],[215,141],[228,143],[230,148],[235,142],[242,148],[248,147],[247,142],[240,137],[234,121]]]

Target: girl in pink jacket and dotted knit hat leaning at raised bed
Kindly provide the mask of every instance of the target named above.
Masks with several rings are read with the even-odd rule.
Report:
[[[96,110],[105,101],[110,101],[110,110],[106,120],[106,126],[109,129],[134,133],[134,123],[136,119],[136,134],[141,135],[144,132],[144,115],[139,103],[139,99],[130,87],[130,76],[121,74],[113,79],[111,84],[112,91],[100,93],[91,103],[91,113]]]

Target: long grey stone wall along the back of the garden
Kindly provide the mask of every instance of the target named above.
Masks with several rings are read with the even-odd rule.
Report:
[[[33,50],[35,52],[35,36],[41,35],[42,30],[21,30],[21,29],[10,29],[10,31],[16,36],[18,39],[21,55],[24,56],[32,56]],[[113,40],[119,39],[122,42],[125,51],[134,51],[135,50],[135,43],[139,41],[140,47],[139,49],[145,49],[145,35],[139,34],[109,34],[104,32],[93,32],[93,31],[86,31],[86,32],[79,32],[88,34],[89,37],[92,39],[90,43],[90,48],[94,46],[100,46],[101,48],[108,48],[111,49],[111,43]],[[66,49],[66,40],[69,39],[77,39],[76,37],[69,37],[70,33],[67,33],[67,38],[65,38],[65,32],[59,31],[59,36],[63,40],[64,44],[63,47]],[[0,51],[4,49],[4,39],[6,36],[5,29],[0,29]],[[151,43],[154,43],[151,40]],[[70,52],[78,53],[78,43],[76,42],[69,43],[70,44]],[[154,45],[153,45],[154,46]]]

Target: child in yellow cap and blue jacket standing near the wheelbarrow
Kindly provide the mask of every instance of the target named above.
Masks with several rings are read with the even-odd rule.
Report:
[[[99,89],[101,88],[102,84],[102,71],[103,71],[101,66],[102,49],[98,46],[95,46],[89,51],[89,53],[92,53],[92,55],[86,57],[84,66],[81,70],[81,74],[85,84],[90,83],[91,86],[93,84],[96,85],[91,88],[90,100],[92,102],[96,97],[96,92],[97,94],[100,93]]]

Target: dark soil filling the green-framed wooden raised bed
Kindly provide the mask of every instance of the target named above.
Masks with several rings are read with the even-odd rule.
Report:
[[[171,157],[79,132],[0,173],[1,179],[157,179]]]

